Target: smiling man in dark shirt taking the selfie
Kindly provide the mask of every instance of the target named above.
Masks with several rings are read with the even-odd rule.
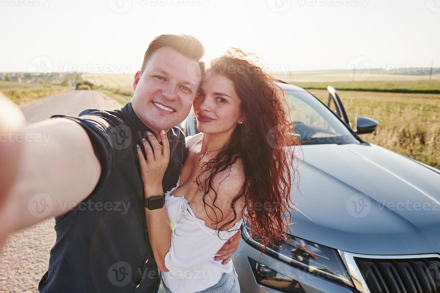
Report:
[[[26,129],[51,139],[47,146],[22,146],[23,162],[1,219],[15,231],[55,216],[57,240],[41,293],[158,291],[145,208],[162,205],[144,201],[136,145],[148,132],[158,139],[161,130],[167,132],[170,161],[162,185],[174,187],[187,156],[185,137],[175,126],[191,110],[203,54],[194,37],[158,36],[136,72],[127,105],[56,115]],[[230,260],[238,239],[237,233],[225,244],[228,253],[220,261]]]

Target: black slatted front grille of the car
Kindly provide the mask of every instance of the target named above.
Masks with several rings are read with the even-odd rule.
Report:
[[[440,293],[440,259],[354,257],[371,293]]]

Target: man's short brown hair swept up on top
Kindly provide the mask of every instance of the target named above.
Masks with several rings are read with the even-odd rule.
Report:
[[[140,72],[143,73],[145,68],[147,67],[148,60],[151,55],[161,47],[169,47],[174,51],[182,54],[185,57],[190,59],[197,58],[200,60],[205,54],[205,48],[202,43],[197,40],[194,36],[189,35],[160,35],[154,38],[148,46],[147,51],[145,51],[145,55],[143,57],[142,67]],[[200,68],[202,72],[205,71],[205,64],[203,62],[199,62]]]

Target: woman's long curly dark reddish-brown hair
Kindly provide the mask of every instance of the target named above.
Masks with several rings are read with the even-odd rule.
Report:
[[[209,206],[223,215],[215,204],[217,192],[212,186],[213,177],[231,168],[240,159],[244,184],[231,202],[234,218],[224,223],[220,230],[235,222],[236,203],[244,198],[246,208],[242,217],[249,224],[251,236],[261,239],[264,250],[269,243],[275,246],[282,243],[290,232],[290,211],[295,210],[297,205],[291,196],[295,174],[298,173],[298,168],[294,166],[297,159],[294,148],[300,145],[300,141],[292,135],[292,121],[284,91],[262,67],[248,60],[249,55],[239,49],[230,49],[211,61],[205,72],[205,76],[221,75],[234,83],[246,123],[238,124],[224,148],[204,163],[195,182],[204,192],[205,209]],[[203,182],[200,180],[202,174],[205,174]],[[214,193],[213,206],[205,201],[205,195],[210,190]]]

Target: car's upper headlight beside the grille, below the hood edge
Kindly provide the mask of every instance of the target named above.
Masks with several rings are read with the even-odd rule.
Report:
[[[258,239],[250,237],[248,225],[243,228],[242,237],[255,248],[261,247]],[[269,244],[264,253],[311,274],[354,287],[339,253],[331,247],[288,235],[283,246]]]

